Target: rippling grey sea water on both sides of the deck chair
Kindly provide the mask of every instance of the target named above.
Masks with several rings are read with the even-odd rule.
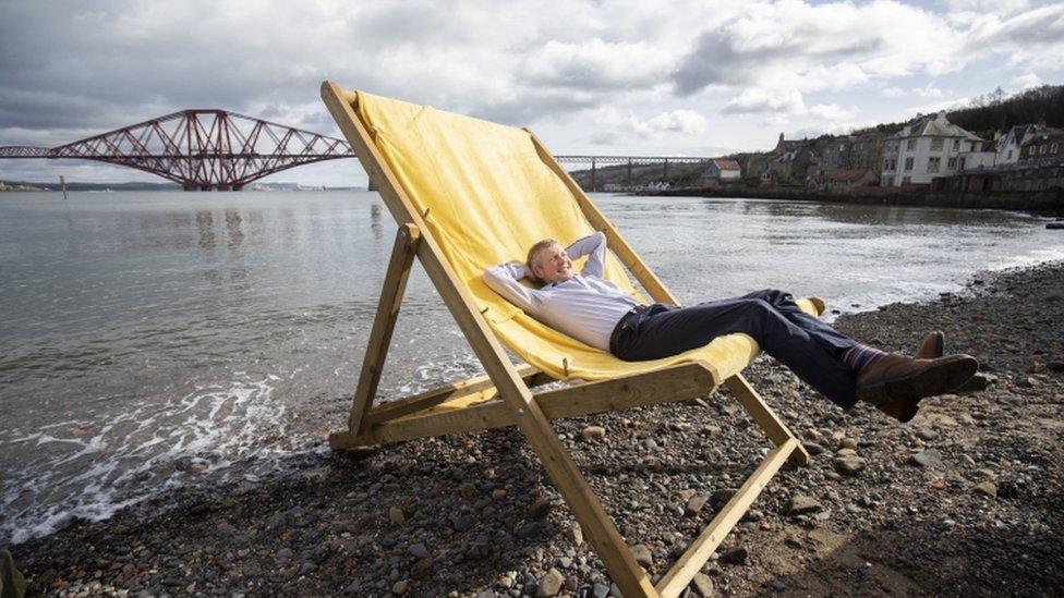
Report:
[[[595,199],[685,303],[776,286],[861,310],[1064,258],[1019,213]],[[394,234],[370,193],[0,195],[0,545],[323,450]],[[382,392],[477,371],[415,269]]]

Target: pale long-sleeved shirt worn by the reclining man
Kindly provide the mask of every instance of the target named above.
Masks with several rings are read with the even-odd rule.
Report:
[[[616,284],[602,278],[606,235],[596,232],[566,248],[570,259],[588,256],[579,274],[565,282],[529,289],[520,264],[499,264],[484,272],[484,282],[525,314],[591,346],[609,351],[609,335],[620,318],[640,305]]]

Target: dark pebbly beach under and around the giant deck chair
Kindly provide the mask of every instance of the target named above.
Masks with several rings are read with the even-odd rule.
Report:
[[[908,425],[847,414],[769,358],[751,366],[751,382],[820,454],[782,472],[706,564],[717,591],[1052,594],[1064,575],[1062,283],[1064,263],[1047,263],[978,274],[938,301],[841,315],[837,328],[888,350],[911,352],[938,327],[948,350],[980,358],[987,389],[929,400]],[[648,547],[654,574],[767,446],[748,422],[722,391],[705,406],[556,427],[621,533]],[[588,425],[605,428],[604,441],[583,441]],[[856,450],[864,471],[836,472],[838,449]],[[918,452],[928,466],[910,464]],[[516,430],[404,442],[365,461],[286,460],[285,474],[178,490],[12,553],[41,594],[521,596],[551,568],[577,595],[608,589]],[[681,490],[711,501],[688,513]],[[795,513],[799,495],[815,507]]]

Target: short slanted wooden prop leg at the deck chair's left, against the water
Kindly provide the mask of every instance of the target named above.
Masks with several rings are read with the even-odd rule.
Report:
[[[396,233],[396,244],[391,248],[391,260],[380,289],[377,315],[373,319],[359,386],[354,390],[351,415],[348,417],[348,430],[352,434],[358,434],[364,427],[366,412],[377,393],[384,361],[391,343],[391,332],[396,328],[396,318],[399,317],[399,304],[402,303],[402,294],[407,290],[407,279],[410,278],[410,268],[413,266],[420,240],[421,233],[413,224],[402,224]]]

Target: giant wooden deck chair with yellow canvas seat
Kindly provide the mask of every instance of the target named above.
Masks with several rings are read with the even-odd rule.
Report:
[[[682,593],[783,463],[809,460],[741,375],[759,354],[758,345],[745,334],[729,334],[675,357],[627,363],[541,325],[495,294],[481,277],[491,266],[523,256],[546,236],[572,240],[602,230],[609,247],[606,278],[637,293],[627,267],[654,301],[677,302],[529,130],[347,90],[331,82],[322,85],[322,96],[399,224],[348,429],[331,434],[330,446],[353,449],[518,426],[624,595]],[[414,256],[486,376],[374,406]],[[823,309],[822,303],[799,303],[818,316]],[[516,366],[504,344],[527,364]],[[582,383],[531,390],[554,380]],[[775,448],[655,586],[551,419],[690,400],[721,385],[735,393]]]

